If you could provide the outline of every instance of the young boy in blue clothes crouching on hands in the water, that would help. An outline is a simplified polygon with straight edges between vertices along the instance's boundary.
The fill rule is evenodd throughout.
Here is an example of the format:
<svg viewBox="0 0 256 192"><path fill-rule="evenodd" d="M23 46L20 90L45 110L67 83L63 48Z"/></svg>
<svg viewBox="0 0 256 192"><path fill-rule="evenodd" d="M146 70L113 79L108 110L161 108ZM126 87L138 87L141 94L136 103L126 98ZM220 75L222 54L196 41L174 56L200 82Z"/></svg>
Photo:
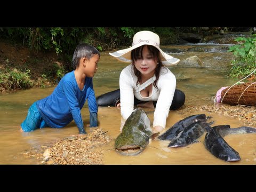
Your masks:
<svg viewBox="0 0 256 192"><path fill-rule="evenodd" d="M77 45L72 60L75 70L61 78L51 95L30 106L25 121L21 123L22 131L65 127L74 119L79 134L86 134L81 115L86 99L90 111L90 127L98 126L98 105L92 77L98 69L99 60L100 53L94 46L85 43Z"/></svg>

